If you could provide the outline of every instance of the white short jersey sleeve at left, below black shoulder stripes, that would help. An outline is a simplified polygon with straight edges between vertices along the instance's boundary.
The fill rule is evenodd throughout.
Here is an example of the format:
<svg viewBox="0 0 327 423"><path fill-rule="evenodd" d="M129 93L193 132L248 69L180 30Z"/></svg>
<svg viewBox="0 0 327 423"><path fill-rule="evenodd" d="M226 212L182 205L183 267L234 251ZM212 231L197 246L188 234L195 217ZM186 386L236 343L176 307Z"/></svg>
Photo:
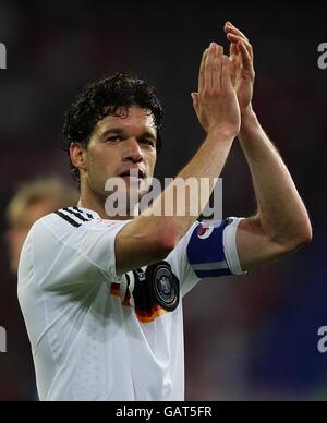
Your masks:
<svg viewBox="0 0 327 423"><path fill-rule="evenodd" d="M120 282L114 243L126 223L94 219L74 227L57 216L41 219L29 234L36 283L59 289Z"/></svg>

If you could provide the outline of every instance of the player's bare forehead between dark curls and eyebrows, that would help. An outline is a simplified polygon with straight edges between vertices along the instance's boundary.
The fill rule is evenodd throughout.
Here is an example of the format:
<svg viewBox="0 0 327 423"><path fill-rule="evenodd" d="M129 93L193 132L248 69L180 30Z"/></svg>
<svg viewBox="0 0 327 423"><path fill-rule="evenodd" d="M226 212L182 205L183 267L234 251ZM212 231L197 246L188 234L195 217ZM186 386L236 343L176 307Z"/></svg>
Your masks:
<svg viewBox="0 0 327 423"><path fill-rule="evenodd" d="M117 116L108 116L97 123L96 131L101 135L110 129L121 129L129 132L149 132L156 135L153 114L140 107L119 109Z"/></svg>

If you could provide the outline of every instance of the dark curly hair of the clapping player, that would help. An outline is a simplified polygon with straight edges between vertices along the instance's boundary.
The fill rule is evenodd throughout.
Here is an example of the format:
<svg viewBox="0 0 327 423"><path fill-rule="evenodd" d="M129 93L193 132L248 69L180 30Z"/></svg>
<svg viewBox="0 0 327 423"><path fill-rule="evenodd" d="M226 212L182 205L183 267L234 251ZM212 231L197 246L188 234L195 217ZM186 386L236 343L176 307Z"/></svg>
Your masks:
<svg viewBox="0 0 327 423"><path fill-rule="evenodd" d="M72 143L87 147L96 124L107 116L119 116L120 108L138 106L153 116L157 130L157 152L161 149L162 107L155 88L130 74L118 73L114 76L87 85L77 95L64 114L63 134L66 142L63 150L70 154ZM80 184L80 171L71 161L71 173Z"/></svg>

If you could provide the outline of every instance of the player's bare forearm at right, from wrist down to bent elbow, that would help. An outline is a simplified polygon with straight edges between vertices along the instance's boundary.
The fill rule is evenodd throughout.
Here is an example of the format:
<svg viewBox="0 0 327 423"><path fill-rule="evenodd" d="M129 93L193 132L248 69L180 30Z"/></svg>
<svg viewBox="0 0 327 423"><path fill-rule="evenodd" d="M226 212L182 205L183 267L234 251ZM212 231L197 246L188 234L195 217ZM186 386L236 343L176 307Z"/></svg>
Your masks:
<svg viewBox="0 0 327 423"><path fill-rule="evenodd" d="M311 238L311 223L290 172L256 116L243 117L239 135L253 177L258 218L276 242Z"/></svg>

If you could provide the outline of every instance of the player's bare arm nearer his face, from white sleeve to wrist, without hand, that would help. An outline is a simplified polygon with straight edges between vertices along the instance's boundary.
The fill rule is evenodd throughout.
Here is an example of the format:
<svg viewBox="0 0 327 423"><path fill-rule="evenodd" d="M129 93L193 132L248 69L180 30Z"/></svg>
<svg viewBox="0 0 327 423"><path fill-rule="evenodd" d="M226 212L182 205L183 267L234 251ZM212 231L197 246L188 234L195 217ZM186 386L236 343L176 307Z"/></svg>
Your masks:
<svg viewBox="0 0 327 423"><path fill-rule="evenodd" d="M234 136L233 136L234 137ZM219 177L227 156L232 146L233 137L223 135L209 135L190 164L179 173L177 179L209 178L209 189L201 197L191 197L190 204L195 202L202 210L209 201L214 190L213 180ZM120 275L131 269L157 263L165 259L178 242L189 231L198 216L190 213L166 216L162 210L165 203L171 201L174 193L175 181L154 202L150 209L132 220L119 233L117 240L117 268ZM201 200L202 198L202 200ZM184 202L184 200L183 200ZM150 216L148 216L150 211ZM201 214L201 213L199 213Z"/></svg>

